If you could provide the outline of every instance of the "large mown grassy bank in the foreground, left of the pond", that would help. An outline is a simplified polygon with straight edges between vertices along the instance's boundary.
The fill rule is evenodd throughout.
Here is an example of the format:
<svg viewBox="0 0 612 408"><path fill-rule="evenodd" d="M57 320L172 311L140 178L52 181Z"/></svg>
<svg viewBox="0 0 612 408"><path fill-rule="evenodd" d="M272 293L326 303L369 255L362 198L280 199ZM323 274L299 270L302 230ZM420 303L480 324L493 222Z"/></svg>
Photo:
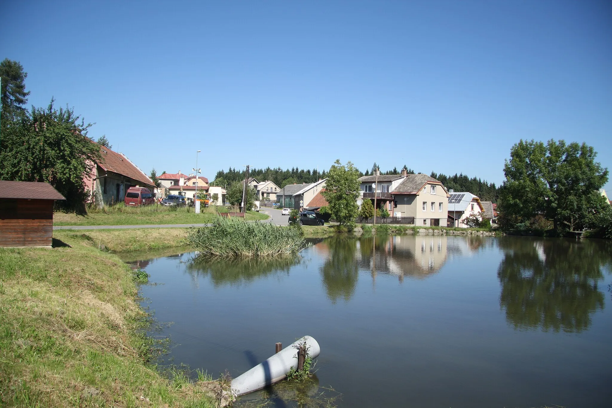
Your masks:
<svg viewBox="0 0 612 408"><path fill-rule="evenodd" d="M212 407L206 383L147 363L132 270L90 239L0 248L0 406Z"/></svg>

